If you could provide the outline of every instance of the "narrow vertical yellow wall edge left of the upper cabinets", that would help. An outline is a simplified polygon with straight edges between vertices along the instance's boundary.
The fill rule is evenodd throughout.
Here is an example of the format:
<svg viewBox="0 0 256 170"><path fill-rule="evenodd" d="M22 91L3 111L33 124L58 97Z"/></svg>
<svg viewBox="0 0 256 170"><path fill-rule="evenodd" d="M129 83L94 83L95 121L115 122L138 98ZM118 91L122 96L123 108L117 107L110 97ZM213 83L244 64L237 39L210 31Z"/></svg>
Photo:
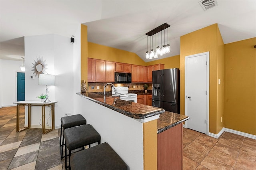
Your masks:
<svg viewBox="0 0 256 170"><path fill-rule="evenodd" d="M81 80L87 81L87 26L81 24ZM87 84L88 87L88 84Z"/></svg>

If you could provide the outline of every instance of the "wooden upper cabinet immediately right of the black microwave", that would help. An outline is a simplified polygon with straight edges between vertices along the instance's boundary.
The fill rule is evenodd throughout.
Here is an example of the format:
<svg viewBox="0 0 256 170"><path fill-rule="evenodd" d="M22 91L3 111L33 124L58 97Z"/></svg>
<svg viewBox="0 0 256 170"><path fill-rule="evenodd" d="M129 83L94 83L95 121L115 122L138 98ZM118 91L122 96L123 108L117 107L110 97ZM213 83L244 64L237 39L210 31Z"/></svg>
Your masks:
<svg viewBox="0 0 256 170"><path fill-rule="evenodd" d="M145 82L146 67L141 65L132 65L132 82Z"/></svg>

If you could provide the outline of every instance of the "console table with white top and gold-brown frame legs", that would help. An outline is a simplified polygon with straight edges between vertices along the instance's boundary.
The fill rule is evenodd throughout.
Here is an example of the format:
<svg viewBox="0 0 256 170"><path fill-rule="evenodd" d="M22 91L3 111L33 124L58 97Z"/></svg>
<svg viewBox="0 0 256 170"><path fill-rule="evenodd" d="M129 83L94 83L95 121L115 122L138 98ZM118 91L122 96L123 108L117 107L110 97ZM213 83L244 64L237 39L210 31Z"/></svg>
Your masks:
<svg viewBox="0 0 256 170"><path fill-rule="evenodd" d="M21 130L25 130L27 128L30 128L30 116L31 116L31 106L41 106L42 107L42 129L43 134L46 134L52 130L54 130L54 105L57 103L57 101L51 101L48 103L40 102L40 101L16 101L13 102L17 104L17 111L16 111L16 132L20 132ZM20 129L20 105L26 105L28 106L28 127L24 127ZM45 107L51 107L52 110L52 128L46 131L45 128Z"/></svg>

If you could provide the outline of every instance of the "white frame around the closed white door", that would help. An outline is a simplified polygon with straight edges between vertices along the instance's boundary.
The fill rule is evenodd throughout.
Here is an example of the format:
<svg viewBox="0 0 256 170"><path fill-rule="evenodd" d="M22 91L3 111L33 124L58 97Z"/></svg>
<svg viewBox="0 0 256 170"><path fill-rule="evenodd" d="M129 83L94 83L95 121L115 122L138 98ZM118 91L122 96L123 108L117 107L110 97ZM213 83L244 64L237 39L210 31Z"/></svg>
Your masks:
<svg viewBox="0 0 256 170"><path fill-rule="evenodd" d="M198 53L198 54L194 54L194 55L188 55L185 56L185 95L184 95L184 99L185 99L185 115L187 115L187 59L190 57L196 57L196 56L200 56L200 55L206 55L206 135L209 136L209 77L210 77L210 51L204 52L204 53ZM187 128L187 124L185 121L185 128Z"/></svg>

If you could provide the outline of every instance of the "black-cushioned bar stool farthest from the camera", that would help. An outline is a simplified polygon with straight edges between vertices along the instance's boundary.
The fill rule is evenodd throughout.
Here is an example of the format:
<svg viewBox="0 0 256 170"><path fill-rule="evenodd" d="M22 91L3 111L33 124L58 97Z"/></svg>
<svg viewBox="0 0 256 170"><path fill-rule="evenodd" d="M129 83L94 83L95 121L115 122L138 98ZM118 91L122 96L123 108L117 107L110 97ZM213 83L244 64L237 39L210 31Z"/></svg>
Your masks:
<svg viewBox="0 0 256 170"><path fill-rule="evenodd" d="M63 156L63 147L64 147L64 130L66 128L71 127L77 127L81 125L86 125L86 119L82 115L71 115L62 117L60 119L61 121L61 128L60 128L60 158L64 158ZM63 134L62 134L62 128L63 128ZM61 144L61 138L62 138L62 144Z"/></svg>

